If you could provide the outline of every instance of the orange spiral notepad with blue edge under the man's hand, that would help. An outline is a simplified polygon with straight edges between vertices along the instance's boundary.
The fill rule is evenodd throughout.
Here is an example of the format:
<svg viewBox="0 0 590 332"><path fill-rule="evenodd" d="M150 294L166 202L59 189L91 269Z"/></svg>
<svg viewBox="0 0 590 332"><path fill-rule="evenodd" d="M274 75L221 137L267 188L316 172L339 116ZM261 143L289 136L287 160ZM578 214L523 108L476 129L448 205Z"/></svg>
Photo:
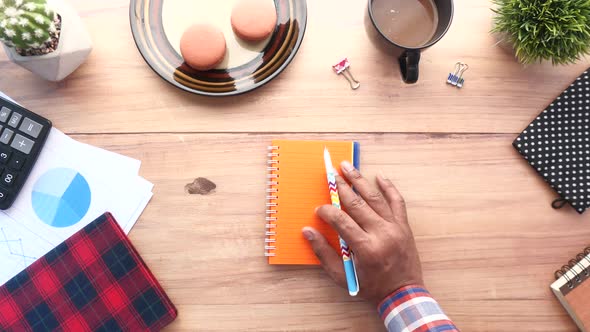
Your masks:
<svg viewBox="0 0 590 332"><path fill-rule="evenodd" d="M269 148L265 253L269 264L319 264L301 229L320 231L340 252L338 234L315 215L315 208L330 204L324 165L324 147L334 168L344 160L358 168L355 142L274 140Z"/></svg>

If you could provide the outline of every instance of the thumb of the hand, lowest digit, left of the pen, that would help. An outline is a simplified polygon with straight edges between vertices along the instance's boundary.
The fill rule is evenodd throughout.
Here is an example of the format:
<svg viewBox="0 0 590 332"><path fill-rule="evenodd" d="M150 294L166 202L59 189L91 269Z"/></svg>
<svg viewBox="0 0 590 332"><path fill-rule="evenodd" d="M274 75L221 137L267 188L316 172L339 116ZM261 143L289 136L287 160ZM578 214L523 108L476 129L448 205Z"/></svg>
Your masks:
<svg viewBox="0 0 590 332"><path fill-rule="evenodd" d="M316 229L312 227L304 227L303 236L311 244L313 252L320 260L322 267L328 275L340 286L346 288L346 275L344 274L344 266L342 265L342 258L330 246L328 240Z"/></svg>

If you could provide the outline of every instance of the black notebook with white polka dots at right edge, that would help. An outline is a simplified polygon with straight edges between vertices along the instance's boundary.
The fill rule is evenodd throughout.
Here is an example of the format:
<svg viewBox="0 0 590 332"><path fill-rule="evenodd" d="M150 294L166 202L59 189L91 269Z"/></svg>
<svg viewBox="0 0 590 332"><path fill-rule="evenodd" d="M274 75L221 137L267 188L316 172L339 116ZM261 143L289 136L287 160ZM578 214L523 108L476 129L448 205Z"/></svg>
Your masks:
<svg viewBox="0 0 590 332"><path fill-rule="evenodd" d="M590 207L590 74L584 72L514 141L514 147L560 198L583 213Z"/></svg>

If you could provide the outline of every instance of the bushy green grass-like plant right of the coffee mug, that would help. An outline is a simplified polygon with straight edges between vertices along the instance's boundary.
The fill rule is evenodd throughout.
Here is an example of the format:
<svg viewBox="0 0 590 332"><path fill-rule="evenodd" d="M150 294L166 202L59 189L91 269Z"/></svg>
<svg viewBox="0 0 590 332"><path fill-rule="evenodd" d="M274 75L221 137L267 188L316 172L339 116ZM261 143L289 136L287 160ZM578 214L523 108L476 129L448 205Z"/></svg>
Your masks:
<svg viewBox="0 0 590 332"><path fill-rule="evenodd" d="M570 64L590 51L590 1L492 0L493 33L523 64Z"/></svg>

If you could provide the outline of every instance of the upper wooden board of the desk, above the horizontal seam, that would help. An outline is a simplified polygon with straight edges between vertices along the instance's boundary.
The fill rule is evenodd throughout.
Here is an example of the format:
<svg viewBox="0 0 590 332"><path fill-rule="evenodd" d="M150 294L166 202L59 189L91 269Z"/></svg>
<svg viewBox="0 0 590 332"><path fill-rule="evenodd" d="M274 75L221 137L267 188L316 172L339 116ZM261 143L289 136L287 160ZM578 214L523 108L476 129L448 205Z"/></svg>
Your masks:
<svg viewBox="0 0 590 332"><path fill-rule="evenodd" d="M47 84L2 55L0 88L75 133L517 133L589 66L524 68L489 34L489 1L457 0L448 35L423 54L419 83L405 85L397 60L372 42L366 1L309 0L305 40L288 69L256 92L212 99L175 89L145 64L128 0L71 2L95 43L88 62ZM358 91L332 72L344 56ZM463 90L445 84L458 60L471 66Z"/></svg>

